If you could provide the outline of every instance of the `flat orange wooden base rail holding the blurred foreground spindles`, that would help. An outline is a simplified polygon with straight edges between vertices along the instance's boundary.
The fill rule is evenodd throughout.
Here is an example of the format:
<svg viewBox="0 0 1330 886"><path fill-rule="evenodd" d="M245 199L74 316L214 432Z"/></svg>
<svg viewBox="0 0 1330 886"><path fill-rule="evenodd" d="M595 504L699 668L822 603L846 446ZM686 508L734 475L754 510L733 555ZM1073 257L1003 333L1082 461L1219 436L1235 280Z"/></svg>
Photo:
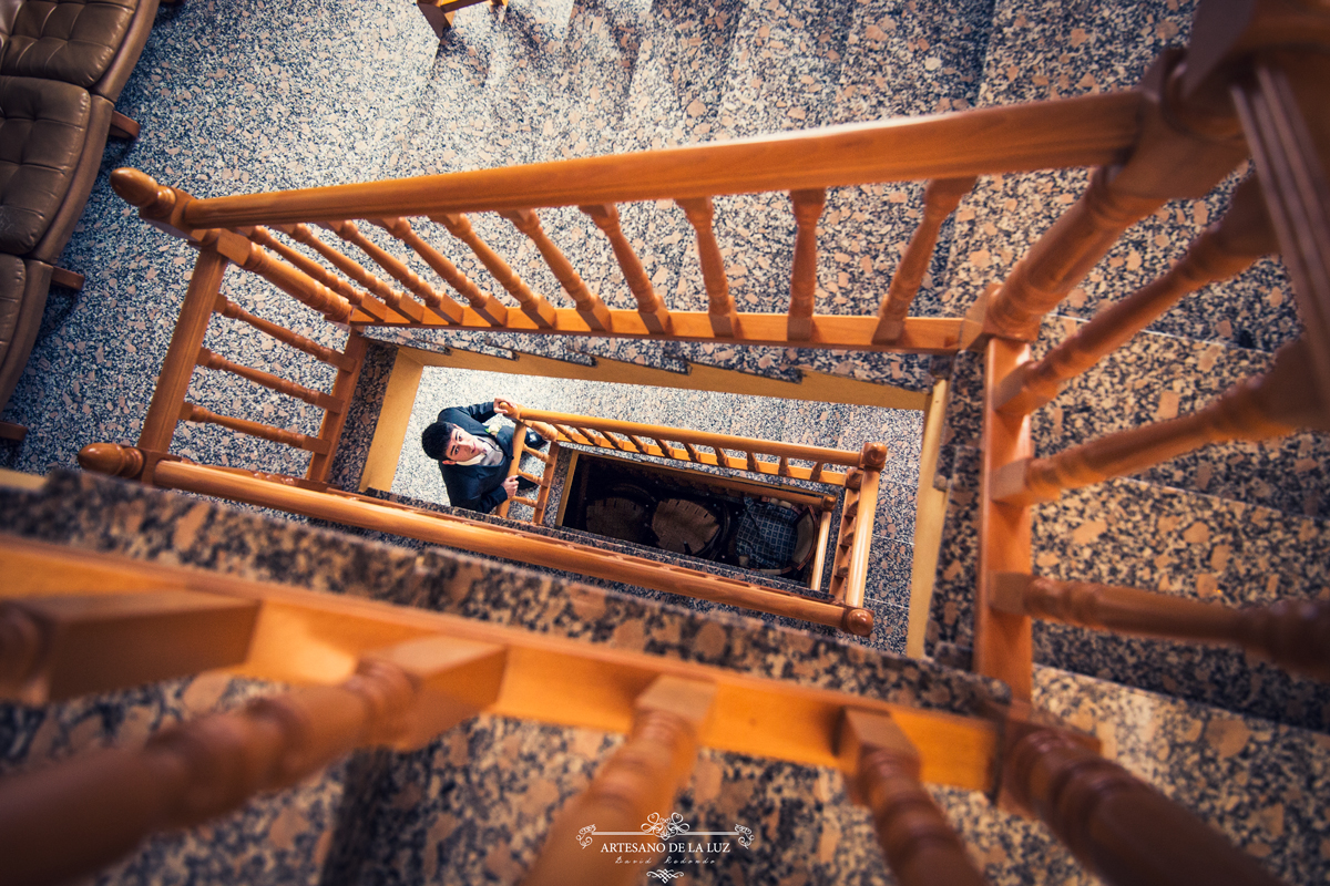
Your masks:
<svg viewBox="0 0 1330 886"><path fill-rule="evenodd" d="M835 735L846 707L887 712L919 748L922 777L970 790L994 786L998 727L982 717L890 704L880 699L746 676L676 658L628 652L551 634L235 576L0 535L0 598L162 588L263 602L242 673L295 685L350 676L367 652L434 635L507 650L499 696L488 712L625 733L633 700L660 676L714 683L712 720L701 743L735 753L835 766Z"/></svg>

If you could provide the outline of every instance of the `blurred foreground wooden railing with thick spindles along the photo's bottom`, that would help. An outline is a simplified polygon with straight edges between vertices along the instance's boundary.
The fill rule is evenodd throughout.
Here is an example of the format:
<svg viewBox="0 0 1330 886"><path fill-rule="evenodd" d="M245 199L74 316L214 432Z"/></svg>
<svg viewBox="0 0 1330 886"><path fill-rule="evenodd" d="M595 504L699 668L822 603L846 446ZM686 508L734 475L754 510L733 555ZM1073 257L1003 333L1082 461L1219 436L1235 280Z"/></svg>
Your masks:
<svg viewBox="0 0 1330 886"><path fill-rule="evenodd" d="M138 651L149 634L132 636L106 614L133 610L146 627L154 618L174 618L182 594L196 602L206 595L192 616L205 627L217 619L229 635L241 628L247 654L238 672L295 687L158 731L140 748L108 748L0 781L0 855L7 882L17 885L93 874L153 832L209 821L358 747L422 748L481 712L629 736L556 817L528 883L636 879L640 867L614 865L613 855L587 846L597 830L668 837L665 829L648 829L673 820L660 813L669 812L700 747L842 768L851 796L871 808L883 854L907 886L984 882L923 781L995 792L1037 814L1117 886L1176 883L1197 871L1205 882L1277 882L1218 832L1100 757L1095 739L1047 715L1036 720L1020 705L998 708L996 716L960 716L888 704L15 537L0 535L0 571L9 579L0 588L0 598L11 600L5 614L19 607L86 615L98 600L77 588L137 588L129 595L137 603L109 592L100 600L102 616L82 619L84 639L112 659L126 643ZM235 612L247 622L239 624ZM5 642L8 623L0 616ZM166 623L149 627L150 636L161 627ZM37 644L48 650L44 667L59 673L73 659L86 668L86 648L47 643L61 630L68 628L37 627ZM184 647L170 646L172 652L152 655L182 664ZM0 646L0 662L8 660L7 650ZM223 658L234 660L233 651ZM112 667L96 688L145 677Z"/></svg>

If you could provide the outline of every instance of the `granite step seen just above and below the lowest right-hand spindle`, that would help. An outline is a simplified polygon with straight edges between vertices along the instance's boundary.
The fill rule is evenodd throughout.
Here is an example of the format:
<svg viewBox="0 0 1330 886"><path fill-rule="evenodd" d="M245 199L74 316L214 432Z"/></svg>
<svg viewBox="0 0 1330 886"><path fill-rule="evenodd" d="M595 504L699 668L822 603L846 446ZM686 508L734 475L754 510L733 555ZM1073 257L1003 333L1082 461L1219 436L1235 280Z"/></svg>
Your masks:
<svg viewBox="0 0 1330 886"><path fill-rule="evenodd" d="M974 643L979 453L958 450L928 624L952 665ZM1330 596L1330 522L1115 480L1035 510L1035 571L1230 606ZM959 652L959 654L958 654ZM1330 685L1228 647L1035 623L1035 660L1248 716L1330 729Z"/></svg>

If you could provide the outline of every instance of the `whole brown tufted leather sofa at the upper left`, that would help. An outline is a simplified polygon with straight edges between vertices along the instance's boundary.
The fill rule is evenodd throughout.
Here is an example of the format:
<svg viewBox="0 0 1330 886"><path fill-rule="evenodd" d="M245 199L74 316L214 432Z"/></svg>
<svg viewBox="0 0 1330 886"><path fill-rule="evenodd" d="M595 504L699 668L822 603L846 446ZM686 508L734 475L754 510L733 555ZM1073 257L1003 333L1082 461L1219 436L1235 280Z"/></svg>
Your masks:
<svg viewBox="0 0 1330 886"><path fill-rule="evenodd" d="M47 292L92 194L109 134L137 124L114 101L157 0L0 0L0 409L28 363ZM0 437L27 429L0 422Z"/></svg>

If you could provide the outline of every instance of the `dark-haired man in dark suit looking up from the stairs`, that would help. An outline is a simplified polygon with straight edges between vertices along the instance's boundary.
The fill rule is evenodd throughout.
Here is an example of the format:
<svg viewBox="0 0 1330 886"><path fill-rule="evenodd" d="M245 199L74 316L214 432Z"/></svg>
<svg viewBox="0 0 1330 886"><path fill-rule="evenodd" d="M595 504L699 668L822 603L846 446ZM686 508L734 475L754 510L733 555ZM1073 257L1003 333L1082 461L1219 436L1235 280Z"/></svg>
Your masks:
<svg viewBox="0 0 1330 886"><path fill-rule="evenodd" d="M507 404L503 397L473 406L450 406L420 436L424 454L439 462L448 503L488 514L500 502L531 489L533 482L508 477L512 464L512 428L491 430L484 424ZM527 448L540 449L545 438L527 432ZM507 478L507 480L505 480Z"/></svg>

